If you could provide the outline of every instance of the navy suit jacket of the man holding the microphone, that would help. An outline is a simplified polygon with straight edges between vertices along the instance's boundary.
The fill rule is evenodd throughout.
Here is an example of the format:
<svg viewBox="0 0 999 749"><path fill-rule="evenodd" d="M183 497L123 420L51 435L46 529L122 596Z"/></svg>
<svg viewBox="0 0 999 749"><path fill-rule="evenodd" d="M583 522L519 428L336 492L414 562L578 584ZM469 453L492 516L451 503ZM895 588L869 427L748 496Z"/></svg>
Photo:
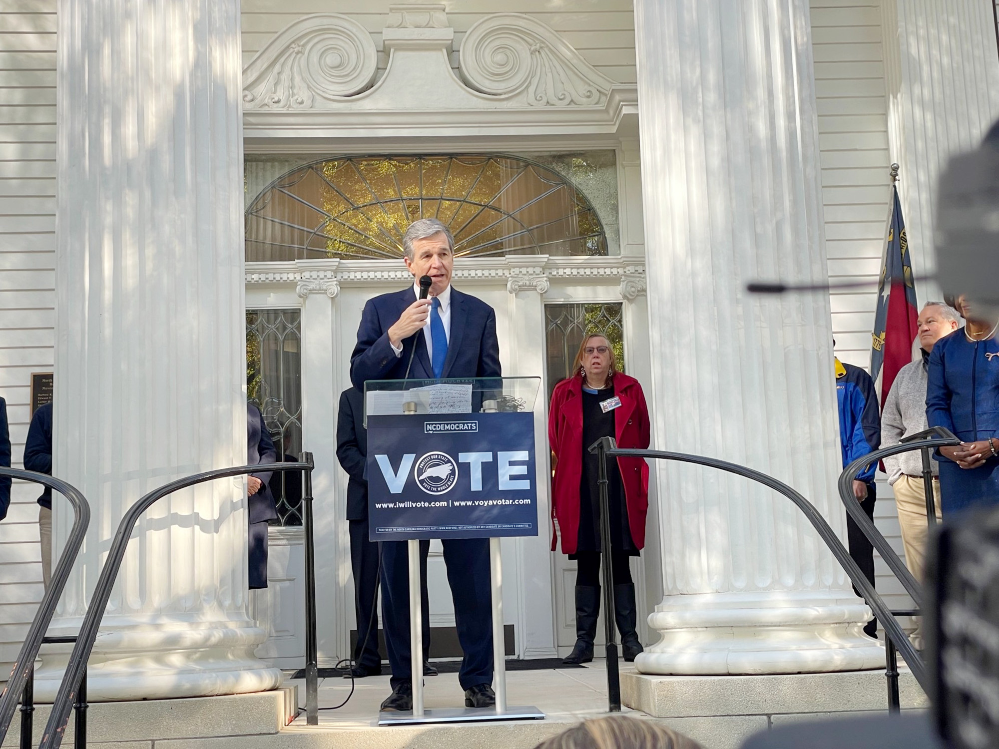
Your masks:
<svg viewBox="0 0 999 749"><path fill-rule="evenodd" d="M403 379L414 346L417 353L410 378L434 378L423 331L417 331L403 342L401 357L396 356L389 343L389 329L416 299L411 286L401 292L383 294L365 305L358 328L358 345L351 355L351 381L362 392L369 379ZM451 338L442 376L500 376L500 342L497 340L497 316L493 308L454 287L451 290L451 305Z"/></svg>

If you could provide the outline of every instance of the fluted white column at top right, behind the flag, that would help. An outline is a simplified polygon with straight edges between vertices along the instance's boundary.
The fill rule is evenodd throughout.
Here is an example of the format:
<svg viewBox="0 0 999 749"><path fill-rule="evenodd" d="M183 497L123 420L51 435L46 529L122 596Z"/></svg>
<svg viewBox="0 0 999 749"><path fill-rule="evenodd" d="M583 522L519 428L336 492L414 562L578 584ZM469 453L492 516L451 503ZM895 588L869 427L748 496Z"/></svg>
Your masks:
<svg viewBox="0 0 999 749"><path fill-rule="evenodd" d="M999 118L999 52L990 2L882 0L888 147L900 165L906 236L917 277L935 268L937 180L954 154L978 148ZM886 180L887 182L887 180ZM939 299L916 283L920 301Z"/></svg>

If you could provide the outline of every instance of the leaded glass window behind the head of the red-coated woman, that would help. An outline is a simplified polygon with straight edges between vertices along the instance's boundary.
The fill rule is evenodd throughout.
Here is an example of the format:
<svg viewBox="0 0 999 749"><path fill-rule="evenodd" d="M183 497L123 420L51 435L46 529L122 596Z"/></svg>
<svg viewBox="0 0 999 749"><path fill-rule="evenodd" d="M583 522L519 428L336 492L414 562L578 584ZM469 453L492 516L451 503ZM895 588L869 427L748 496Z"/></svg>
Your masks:
<svg viewBox="0 0 999 749"><path fill-rule="evenodd" d="M618 303L545 305L545 353L548 392L567 377L583 338L603 336L614 351L617 370L624 372L623 307Z"/></svg>

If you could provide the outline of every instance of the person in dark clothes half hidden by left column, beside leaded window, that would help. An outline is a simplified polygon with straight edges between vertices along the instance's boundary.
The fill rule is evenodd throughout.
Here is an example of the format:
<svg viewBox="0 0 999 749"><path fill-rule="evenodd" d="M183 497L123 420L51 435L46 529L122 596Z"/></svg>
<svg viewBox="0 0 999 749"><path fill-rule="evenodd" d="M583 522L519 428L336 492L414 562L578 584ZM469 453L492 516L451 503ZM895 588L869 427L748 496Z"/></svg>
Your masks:
<svg viewBox="0 0 999 749"><path fill-rule="evenodd" d="M278 450L264 423L264 416L253 403L247 403L247 465L273 463ZM278 516L274 494L268 482L273 471L264 470L247 476L249 518L250 589L267 587L267 527L268 520Z"/></svg>

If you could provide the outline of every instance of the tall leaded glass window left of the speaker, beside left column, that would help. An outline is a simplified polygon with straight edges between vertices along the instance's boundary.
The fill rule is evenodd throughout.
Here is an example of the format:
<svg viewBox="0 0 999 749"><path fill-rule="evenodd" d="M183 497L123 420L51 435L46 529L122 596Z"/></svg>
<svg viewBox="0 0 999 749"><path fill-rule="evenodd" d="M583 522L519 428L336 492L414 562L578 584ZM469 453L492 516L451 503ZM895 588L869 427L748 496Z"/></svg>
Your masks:
<svg viewBox="0 0 999 749"><path fill-rule="evenodd" d="M264 414L279 460L302 451L302 332L299 310L247 310L247 397ZM276 472L276 525L302 524L302 474Z"/></svg>

